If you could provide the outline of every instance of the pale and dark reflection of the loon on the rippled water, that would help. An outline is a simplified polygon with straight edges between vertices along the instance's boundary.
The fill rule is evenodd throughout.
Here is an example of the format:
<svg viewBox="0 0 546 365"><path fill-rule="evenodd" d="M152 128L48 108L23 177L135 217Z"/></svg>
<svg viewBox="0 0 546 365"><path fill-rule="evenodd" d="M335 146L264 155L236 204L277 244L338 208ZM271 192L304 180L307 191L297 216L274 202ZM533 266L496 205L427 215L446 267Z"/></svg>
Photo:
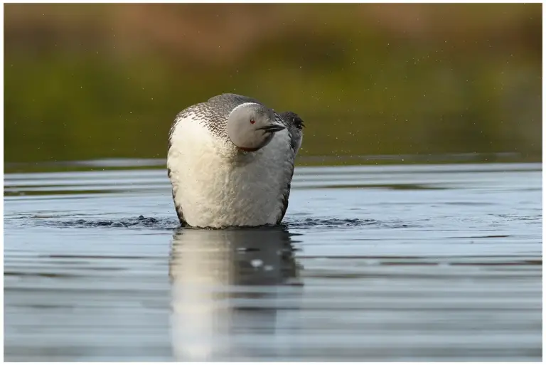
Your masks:
<svg viewBox="0 0 546 365"><path fill-rule="evenodd" d="M241 335L274 338L277 300L301 290L291 236L280 227L176 231L169 265L176 360L245 359L257 350Z"/></svg>

